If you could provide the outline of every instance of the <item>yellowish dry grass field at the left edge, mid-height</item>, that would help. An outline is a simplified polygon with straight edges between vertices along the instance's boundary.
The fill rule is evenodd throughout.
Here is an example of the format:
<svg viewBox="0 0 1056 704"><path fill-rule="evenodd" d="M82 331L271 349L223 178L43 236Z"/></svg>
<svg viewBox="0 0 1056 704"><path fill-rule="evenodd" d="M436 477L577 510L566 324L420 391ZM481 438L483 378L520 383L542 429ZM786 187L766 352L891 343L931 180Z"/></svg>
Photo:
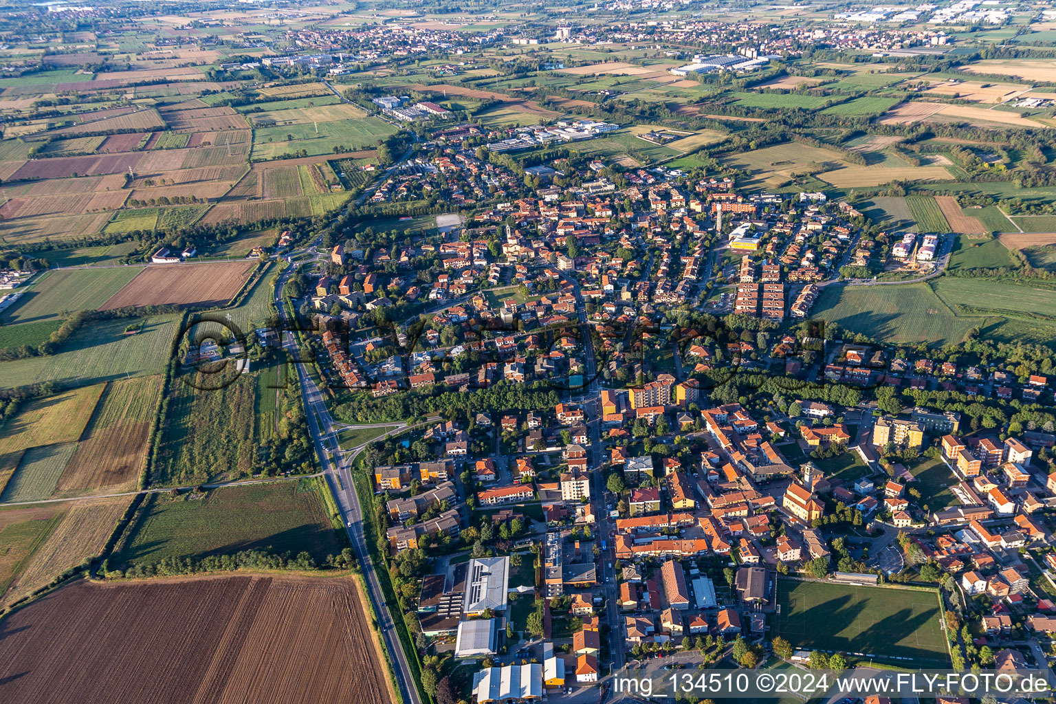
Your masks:
<svg viewBox="0 0 1056 704"><path fill-rule="evenodd" d="M75 442L92 417L102 386L81 386L25 404L0 427L0 457L29 448Z"/></svg>

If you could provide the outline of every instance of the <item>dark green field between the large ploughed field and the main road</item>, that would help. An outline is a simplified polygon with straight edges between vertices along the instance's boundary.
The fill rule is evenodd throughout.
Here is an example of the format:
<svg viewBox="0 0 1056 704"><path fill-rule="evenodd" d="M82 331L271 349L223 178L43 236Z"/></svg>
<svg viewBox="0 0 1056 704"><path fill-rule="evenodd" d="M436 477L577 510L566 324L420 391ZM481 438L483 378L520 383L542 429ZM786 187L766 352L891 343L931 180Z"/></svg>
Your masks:
<svg viewBox="0 0 1056 704"><path fill-rule="evenodd" d="M297 555L318 564L341 551L331 526L319 477L185 492L151 494L122 536L111 562L124 569L165 557L201 558L242 550Z"/></svg>

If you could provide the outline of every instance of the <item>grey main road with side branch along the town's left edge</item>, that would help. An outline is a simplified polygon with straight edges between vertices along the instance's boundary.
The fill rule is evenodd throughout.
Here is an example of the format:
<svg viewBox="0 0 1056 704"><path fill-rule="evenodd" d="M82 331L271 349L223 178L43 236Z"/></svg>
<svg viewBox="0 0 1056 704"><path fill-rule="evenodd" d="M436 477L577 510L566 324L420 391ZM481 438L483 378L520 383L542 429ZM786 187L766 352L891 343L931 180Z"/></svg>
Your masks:
<svg viewBox="0 0 1056 704"><path fill-rule="evenodd" d="M286 311L282 305L281 292L293 269L294 267L287 268L279 277L275 287L276 307L283 320L286 319ZM297 341L290 332L283 332L282 344L291 355L291 359L298 359ZM356 486L352 480L352 472L348 469L352 464L352 459L359 454L366 443L356 448L348 456L342 456L342 451L338 446L335 423L331 418L329 412L326 410L322 393L312 380L302 362L296 362L295 367L301 382L301 399L304 402L304 415L308 420L308 430L312 433L316 454L319 456L319 462L322 464L323 474L329 484L331 492L337 500L338 510L341 512L341 520L344 522L345 530L348 533L348 539L356 551L356 559L362 570L367 595L374 605L374 612L377 614L381 640L389 650L389 658L393 664L393 672L396 676L396 684L399 687L400 697L404 704L421 704L414 676L407 662L407 654L403 652L399 635L396 632L393 614L389 611L384 593L381 591L381 585L378 582L378 575L374 570L374 563L371 560L370 553L366 550L366 540L363 535L363 514L359 505L359 496L356 494ZM406 427L403 423L396 424L393 431L380 437L385 437L394 432L401 432L403 427ZM331 460L332 456L334 458L333 461ZM373 499L373 497L371 498Z"/></svg>

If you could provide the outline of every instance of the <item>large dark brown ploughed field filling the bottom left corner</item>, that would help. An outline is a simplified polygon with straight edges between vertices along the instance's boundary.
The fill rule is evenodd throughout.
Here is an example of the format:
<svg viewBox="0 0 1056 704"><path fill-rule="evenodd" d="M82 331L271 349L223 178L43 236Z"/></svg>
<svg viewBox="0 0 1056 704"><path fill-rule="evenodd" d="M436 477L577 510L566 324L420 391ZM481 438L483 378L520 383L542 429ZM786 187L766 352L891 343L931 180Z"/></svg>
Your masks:
<svg viewBox="0 0 1056 704"><path fill-rule="evenodd" d="M77 582L5 622L4 699L388 702L355 590L294 576Z"/></svg>

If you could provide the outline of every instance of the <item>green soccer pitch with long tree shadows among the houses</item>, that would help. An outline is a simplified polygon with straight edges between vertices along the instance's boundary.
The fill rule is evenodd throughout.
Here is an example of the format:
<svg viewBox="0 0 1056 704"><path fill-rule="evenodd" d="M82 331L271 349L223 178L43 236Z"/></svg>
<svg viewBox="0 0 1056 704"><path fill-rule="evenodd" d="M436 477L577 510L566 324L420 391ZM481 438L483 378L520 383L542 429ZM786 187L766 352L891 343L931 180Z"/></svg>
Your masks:
<svg viewBox="0 0 1056 704"><path fill-rule="evenodd" d="M934 591L779 579L776 635L795 648L949 663Z"/></svg>

